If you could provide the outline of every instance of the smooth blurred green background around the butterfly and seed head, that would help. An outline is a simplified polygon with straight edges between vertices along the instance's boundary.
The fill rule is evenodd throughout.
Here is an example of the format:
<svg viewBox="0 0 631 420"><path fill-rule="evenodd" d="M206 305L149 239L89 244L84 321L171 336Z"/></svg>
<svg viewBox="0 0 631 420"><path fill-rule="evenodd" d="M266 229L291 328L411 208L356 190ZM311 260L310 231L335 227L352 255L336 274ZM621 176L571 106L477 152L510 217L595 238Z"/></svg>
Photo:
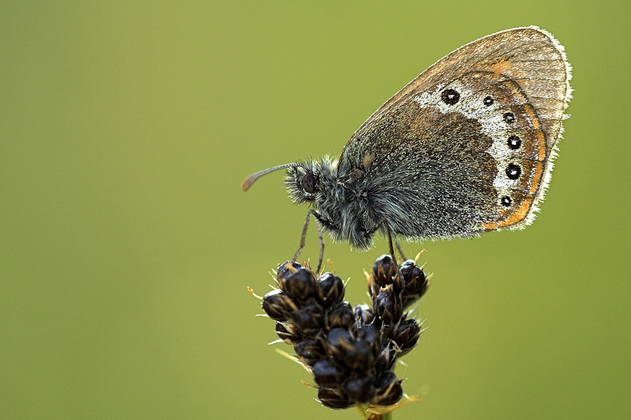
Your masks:
<svg viewBox="0 0 631 420"><path fill-rule="evenodd" d="M435 273L398 419L628 419L631 41L622 1L0 6L0 418L356 419L256 317L306 208L281 174L481 36L538 25L574 100L533 226L408 244ZM351 303L384 253L329 246ZM315 230L304 257L315 258Z"/></svg>

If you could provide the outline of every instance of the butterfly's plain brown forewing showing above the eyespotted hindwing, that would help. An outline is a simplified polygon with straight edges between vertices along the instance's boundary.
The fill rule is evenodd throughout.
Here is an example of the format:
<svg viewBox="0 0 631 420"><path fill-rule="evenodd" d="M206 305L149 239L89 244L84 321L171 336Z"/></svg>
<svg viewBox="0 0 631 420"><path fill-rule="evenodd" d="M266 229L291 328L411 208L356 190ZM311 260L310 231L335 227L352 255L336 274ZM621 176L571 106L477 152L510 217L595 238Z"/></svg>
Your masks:
<svg viewBox="0 0 631 420"><path fill-rule="evenodd" d="M465 72L494 72L516 81L539 112L548 146L554 147L571 97L571 66L554 36L534 26L484 36L442 57L381 105L357 132L410 95L430 90Z"/></svg>

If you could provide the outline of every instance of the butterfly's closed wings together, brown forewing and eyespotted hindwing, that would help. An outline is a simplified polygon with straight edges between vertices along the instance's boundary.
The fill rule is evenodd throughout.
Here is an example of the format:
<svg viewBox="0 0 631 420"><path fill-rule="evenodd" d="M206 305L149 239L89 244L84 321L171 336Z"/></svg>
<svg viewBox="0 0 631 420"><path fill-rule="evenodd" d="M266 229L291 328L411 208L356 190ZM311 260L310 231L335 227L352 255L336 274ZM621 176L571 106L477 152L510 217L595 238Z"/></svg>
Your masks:
<svg viewBox="0 0 631 420"><path fill-rule="evenodd" d="M370 217L386 217L402 236L525 226L550 179L569 79L563 48L548 32L527 27L478 39L368 118L342 151L339 171L364 182L375 211L383 210Z"/></svg>

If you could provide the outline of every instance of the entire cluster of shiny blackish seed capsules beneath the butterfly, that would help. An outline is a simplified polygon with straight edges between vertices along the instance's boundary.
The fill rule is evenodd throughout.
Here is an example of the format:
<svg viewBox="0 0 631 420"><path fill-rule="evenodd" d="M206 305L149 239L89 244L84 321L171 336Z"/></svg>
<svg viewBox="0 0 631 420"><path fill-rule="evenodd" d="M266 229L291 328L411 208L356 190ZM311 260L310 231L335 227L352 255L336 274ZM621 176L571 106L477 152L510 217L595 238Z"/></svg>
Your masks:
<svg viewBox="0 0 631 420"><path fill-rule="evenodd" d="M395 404L402 381L392 370L421 334L403 310L426 291L425 273L411 260L399 267L390 255L379 257L368 279L372 307L342 302L345 287L338 276L315 277L297 263L278 267L280 290L263 298L278 337L310 368L325 407Z"/></svg>

